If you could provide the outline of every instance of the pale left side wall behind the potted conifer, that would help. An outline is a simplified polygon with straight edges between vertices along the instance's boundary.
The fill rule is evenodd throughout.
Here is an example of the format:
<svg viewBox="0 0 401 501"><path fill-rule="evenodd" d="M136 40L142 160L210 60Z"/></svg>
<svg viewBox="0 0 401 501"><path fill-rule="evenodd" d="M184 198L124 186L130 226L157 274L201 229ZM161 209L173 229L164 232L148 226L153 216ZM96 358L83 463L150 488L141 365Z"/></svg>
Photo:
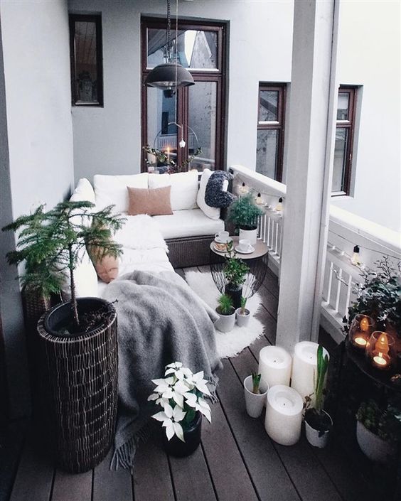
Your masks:
<svg viewBox="0 0 401 501"><path fill-rule="evenodd" d="M2 227L40 201L50 209L68 195L73 183L73 128L65 0L1 1L0 13ZM0 313L15 418L28 412L29 399L17 271L5 262L14 246L11 233L1 235Z"/></svg>

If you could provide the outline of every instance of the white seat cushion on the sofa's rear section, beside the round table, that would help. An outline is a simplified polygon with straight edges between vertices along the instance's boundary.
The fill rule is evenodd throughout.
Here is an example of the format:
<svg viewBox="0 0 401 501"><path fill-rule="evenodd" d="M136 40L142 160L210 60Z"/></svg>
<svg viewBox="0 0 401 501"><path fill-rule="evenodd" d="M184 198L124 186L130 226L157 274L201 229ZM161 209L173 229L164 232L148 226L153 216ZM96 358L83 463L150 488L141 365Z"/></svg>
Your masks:
<svg viewBox="0 0 401 501"><path fill-rule="evenodd" d="M201 209L176 210L173 215L153 216L164 238L201 237L224 230L223 220L213 220Z"/></svg>

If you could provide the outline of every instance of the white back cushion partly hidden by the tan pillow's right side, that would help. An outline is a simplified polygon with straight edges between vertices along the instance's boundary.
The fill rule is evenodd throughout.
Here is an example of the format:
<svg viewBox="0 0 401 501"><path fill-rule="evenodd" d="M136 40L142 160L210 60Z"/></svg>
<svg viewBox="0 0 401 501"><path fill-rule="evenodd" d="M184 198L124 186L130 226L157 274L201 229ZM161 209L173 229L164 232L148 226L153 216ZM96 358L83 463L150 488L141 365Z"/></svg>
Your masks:
<svg viewBox="0 0 401 501"><path fill-rule="evenodd" d="M163 188L171 185L171 209L196 209L198 194L198 172L178 172L175 174L149 174L149 188Z"/></svg>

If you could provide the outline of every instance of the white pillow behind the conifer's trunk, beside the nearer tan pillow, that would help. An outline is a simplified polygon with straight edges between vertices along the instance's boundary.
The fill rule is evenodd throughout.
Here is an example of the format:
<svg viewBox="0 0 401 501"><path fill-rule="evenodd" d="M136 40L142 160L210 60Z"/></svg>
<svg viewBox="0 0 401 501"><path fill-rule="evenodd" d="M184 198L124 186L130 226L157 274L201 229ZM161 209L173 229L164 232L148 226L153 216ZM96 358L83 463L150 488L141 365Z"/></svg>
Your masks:
<svg viewBox="0 0 401 501"><path fill-rule="evenodd" d="M93 266L86 249L81 249L80 255L82 261L78 262L74 270L75 279L75 294L77 298L83 297L97 297L97 273L95 266ZM65 280L61 286L61 296L63 301L70 301L71 288L70 288L70 273L68 270L63 271Z"/></svg>

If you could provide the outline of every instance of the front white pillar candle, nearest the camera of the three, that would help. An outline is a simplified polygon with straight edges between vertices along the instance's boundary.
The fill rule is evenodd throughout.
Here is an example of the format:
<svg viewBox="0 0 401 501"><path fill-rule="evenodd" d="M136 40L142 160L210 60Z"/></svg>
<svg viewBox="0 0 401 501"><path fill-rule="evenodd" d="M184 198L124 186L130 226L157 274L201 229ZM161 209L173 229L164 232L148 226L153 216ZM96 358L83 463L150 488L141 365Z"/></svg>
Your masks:
<svg viewBox="0 0 401 501"><path fill-rule="evenodd" d="M301 396L284 384L277 384L267 392L264 428L274 442L282 446L293 446L301 436L302 411Z"/></svg>

